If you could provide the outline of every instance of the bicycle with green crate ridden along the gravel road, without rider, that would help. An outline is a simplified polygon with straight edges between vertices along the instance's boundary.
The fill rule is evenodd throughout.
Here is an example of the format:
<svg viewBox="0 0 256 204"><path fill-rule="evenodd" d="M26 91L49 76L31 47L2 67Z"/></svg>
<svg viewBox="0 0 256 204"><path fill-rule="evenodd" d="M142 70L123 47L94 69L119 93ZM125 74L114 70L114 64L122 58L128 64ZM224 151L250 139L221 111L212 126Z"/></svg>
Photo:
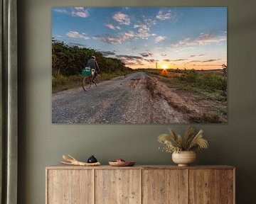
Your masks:
<svg viewBox="0 0 256 204"><path fill-rule="evenodd" d="M85 76L82 80L82 89L84 91L89 91L92 84L97 86L97 84L100 84L102 81L99 74L95 77L95 80L93 80L93 77L95 76L95 69L90 69L90 67L82 69L82 75Z"/></svg>

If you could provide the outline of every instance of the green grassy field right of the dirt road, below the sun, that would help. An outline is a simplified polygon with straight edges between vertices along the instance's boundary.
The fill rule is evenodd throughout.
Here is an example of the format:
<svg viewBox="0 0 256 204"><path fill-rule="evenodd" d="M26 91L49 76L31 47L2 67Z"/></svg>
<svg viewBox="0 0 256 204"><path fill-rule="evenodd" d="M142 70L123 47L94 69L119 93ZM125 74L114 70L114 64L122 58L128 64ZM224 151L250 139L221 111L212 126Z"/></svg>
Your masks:
<svg viewBox="0 0 256 204"><path fill-rule="evenodd" d="M209 106L208 113L198 115L179 104L170 104L178 111L188 115L191 123L223 123L227 118L227 77L222 70L196 71L145 69L144 72L156 77L167 86L195 96L195 101L215 101L215 106ZM169 101L170 102L170 101ZM171 103L171 102L170 102ZM207 103L207 102L206 102Z"/></svg>

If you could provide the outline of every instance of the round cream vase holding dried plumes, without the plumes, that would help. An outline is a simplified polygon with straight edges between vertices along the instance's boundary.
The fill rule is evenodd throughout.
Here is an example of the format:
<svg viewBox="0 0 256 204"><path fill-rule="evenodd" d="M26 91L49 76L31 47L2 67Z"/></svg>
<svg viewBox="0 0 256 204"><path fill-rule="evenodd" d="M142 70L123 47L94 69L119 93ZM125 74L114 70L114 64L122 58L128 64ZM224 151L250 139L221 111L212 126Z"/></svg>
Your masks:
<svg viewBox="0 0 256 204"><path fill-rule="evenodd" d="M178 166L189 166L193 162L196 162L196 152L193 151L181 151L174 152L172 154L172 160Z"/></svg>

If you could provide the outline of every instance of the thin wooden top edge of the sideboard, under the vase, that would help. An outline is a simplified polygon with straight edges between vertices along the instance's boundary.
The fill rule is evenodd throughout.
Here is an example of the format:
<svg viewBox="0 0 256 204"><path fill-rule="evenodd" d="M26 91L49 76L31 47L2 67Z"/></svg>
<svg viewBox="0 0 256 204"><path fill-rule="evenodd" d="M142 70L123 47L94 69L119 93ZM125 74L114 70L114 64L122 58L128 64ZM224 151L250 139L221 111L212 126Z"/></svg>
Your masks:
<svg viewBox="0 0 256 204"><path fill-rule="evenodd" d="M134 166L68 166L64 164L46 166L46 169L235 169L228 165L174 166L174 165L134 165Z"/></svg>

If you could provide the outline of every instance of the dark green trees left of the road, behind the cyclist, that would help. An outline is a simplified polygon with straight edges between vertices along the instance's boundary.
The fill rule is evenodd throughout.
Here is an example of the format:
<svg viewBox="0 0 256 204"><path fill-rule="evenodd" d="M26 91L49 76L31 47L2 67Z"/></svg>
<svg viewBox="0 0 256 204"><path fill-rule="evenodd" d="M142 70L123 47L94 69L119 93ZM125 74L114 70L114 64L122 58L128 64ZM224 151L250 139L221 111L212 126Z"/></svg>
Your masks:
<svg viewBox="0 0 256 204"><path fill-rule="evenodd" d="M100 67L100 72L131 72L125 67L124 62L114 57L105 57L101 52L78 46L69 46L65 42L52 39L52 73L63 76L80 74L86 67L87 60L95 56Z"/></svg>

